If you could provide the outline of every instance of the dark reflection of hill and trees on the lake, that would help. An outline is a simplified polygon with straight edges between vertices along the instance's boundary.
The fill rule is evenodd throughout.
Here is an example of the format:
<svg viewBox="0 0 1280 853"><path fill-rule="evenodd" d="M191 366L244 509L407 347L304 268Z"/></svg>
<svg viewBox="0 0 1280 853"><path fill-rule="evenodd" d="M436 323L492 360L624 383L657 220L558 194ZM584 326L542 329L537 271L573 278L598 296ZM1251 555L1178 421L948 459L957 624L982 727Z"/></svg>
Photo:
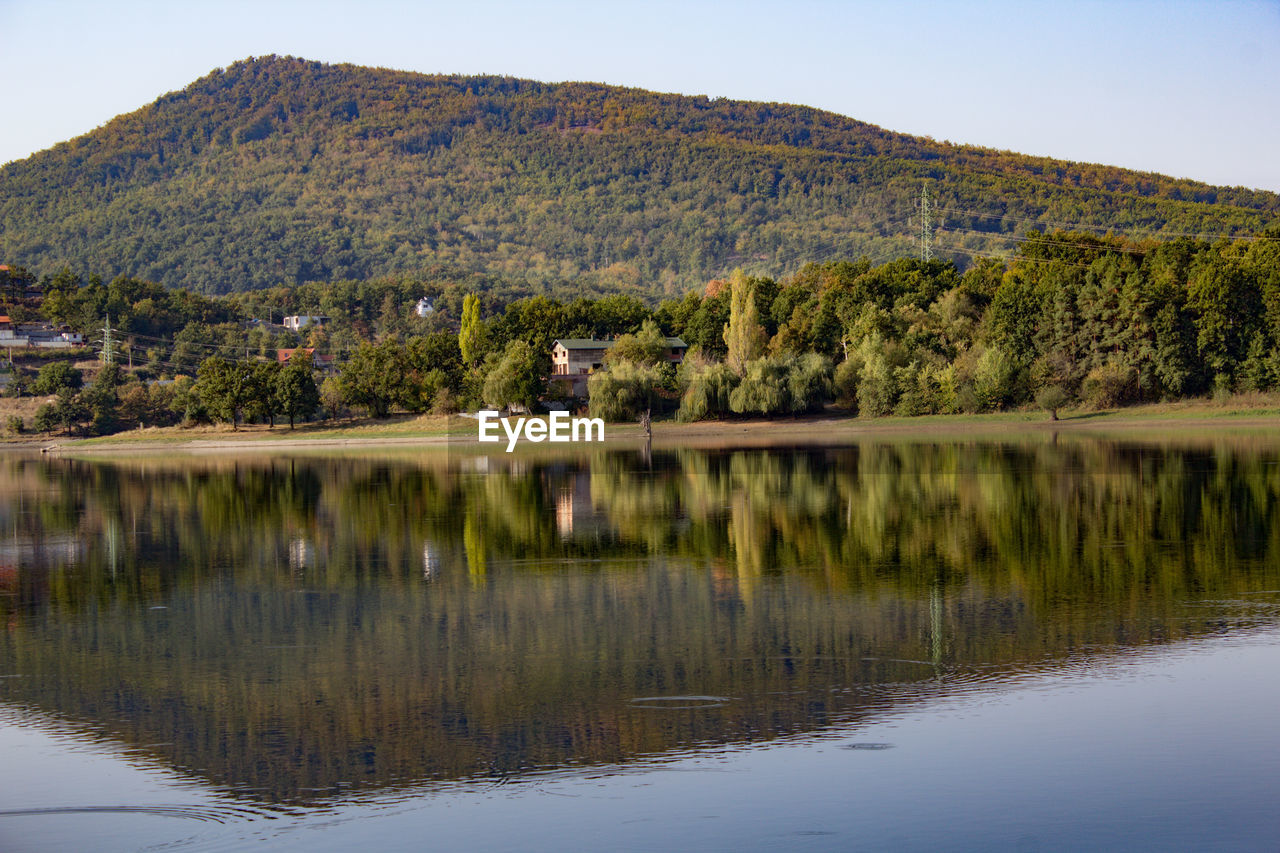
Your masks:
<svg viewBox="0 0 1280 853"><path fill-rule="evenodd" d="M0 698L270 800L810 731L1280 585L1265 448L3 464L4 542L59 544Z"/></svg>

